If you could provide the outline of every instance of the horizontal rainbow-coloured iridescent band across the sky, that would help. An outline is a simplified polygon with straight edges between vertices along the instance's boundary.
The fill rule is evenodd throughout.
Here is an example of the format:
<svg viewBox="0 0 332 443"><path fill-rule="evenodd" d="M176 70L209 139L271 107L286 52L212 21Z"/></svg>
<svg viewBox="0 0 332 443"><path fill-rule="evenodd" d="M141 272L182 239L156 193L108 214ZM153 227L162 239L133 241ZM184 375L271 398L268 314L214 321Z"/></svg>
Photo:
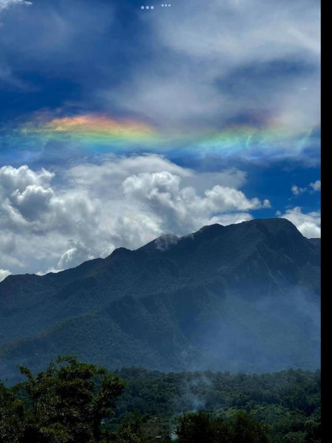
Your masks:
<svg viewBox="0 0 332 443"><path fill-rule="evenodd" d="M43 151L43 155L70 157L74 152L130 154L169 153L204 157L209 154L248 158L297 156L310 143L311 128L292 128L277 121L264 127L232 125L220 130L164 131L152 125L105 115L85 114L43 120L35 118L7 136L7 151ZM6 140L6 137L4 137ZM315 140L315 144L319 140ZM6 141L4 142L6 143ZM4 152L1 148L0 151Z"/></svg>

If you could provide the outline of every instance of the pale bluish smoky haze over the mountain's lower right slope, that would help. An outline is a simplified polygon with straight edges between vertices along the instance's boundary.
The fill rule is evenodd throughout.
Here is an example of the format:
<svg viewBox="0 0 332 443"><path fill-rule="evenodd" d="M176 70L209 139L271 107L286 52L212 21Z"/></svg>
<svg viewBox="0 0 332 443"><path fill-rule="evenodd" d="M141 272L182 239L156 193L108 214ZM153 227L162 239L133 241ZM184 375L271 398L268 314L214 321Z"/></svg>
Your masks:
<svg viewBox="0 0 332 443"><path fill-rule="evenodd" d="M224 297L206 331L197 335L201 354L188 370L263 373L320 367L320 301L294 289L246 299Z"/></svg>

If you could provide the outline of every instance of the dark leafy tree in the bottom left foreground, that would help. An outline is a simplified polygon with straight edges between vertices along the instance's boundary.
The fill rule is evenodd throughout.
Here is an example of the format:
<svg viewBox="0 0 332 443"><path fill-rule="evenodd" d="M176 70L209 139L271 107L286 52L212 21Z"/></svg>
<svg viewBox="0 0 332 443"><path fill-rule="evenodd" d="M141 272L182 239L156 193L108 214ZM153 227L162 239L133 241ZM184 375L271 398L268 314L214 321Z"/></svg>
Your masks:
<svg viewBox="0 0 332 443"><path fill-rule="evenodd" d="M101 420L113 413L124 381L106 369L64 356L35 377L0 390L0 441L3 443L99 442ZM15 393L21 393L20 400Z"/></svg>

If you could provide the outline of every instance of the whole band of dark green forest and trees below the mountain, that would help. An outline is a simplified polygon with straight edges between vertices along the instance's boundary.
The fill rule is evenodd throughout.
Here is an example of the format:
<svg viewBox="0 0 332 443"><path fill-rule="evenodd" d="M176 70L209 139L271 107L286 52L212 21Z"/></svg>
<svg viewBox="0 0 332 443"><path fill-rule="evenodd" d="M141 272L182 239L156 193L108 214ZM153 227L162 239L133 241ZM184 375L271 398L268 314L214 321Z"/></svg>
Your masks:
<svg viewBox="0 0 332 443"><path fill-rule="evenodd" d="M0 383L3 443L318 443L320 371L113 374L59 357Z"/></svg>

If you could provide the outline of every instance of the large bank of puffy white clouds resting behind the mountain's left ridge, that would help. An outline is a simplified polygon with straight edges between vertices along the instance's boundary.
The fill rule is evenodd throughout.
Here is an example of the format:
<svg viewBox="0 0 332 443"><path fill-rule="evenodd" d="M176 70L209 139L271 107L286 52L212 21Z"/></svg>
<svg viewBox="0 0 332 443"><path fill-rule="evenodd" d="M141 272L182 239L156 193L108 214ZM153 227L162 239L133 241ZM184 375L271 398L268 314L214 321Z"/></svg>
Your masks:
<svg viewBox="0 0 332 443"><path fill-rule="evenodd" d="M81 163L57 178L28 166L0 169L0 267L55 272L270 207L239 189L240 170L199 173L157 155Z"/></svg>

